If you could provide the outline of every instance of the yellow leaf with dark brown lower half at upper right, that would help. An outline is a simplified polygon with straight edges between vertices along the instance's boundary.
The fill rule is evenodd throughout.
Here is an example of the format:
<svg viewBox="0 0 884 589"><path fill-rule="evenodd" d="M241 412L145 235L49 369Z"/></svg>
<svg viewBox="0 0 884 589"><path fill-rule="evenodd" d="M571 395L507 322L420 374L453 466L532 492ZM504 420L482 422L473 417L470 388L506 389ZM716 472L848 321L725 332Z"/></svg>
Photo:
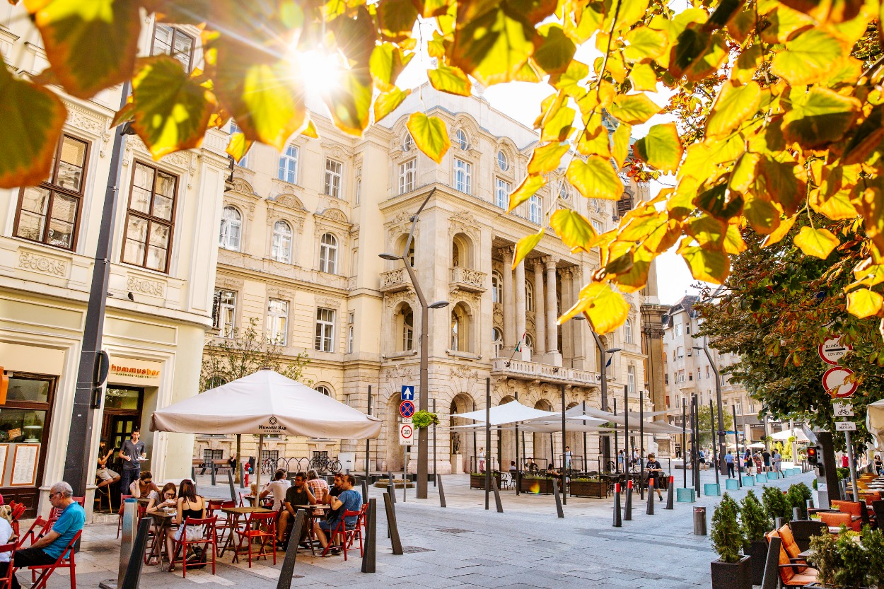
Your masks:
<svg viewBox="0 0 884 589"><path fill-rule="evenodd" d="M807 93L792 92L792 110L783 115L782 133L788 142L803 148L819 148L839 141L853 125L860 103L828 88Z"/></svg>

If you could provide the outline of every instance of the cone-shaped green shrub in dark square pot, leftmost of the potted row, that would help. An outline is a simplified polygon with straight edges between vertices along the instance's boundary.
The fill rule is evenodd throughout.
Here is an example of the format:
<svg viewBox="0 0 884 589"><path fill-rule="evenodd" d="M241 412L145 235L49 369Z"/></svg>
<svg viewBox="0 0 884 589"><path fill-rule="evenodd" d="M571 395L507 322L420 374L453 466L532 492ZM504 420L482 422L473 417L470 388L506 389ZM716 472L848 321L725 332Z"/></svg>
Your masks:
<svg viewBox="0 0 884 589"><path fill-rule="evenodd" d="M713 589L752 589L752 574L749 556L740 554L744 538L740 524L737 524L736 501L724 493L721 502L713 513L710 539L719 560L710 562Z"/></svg>

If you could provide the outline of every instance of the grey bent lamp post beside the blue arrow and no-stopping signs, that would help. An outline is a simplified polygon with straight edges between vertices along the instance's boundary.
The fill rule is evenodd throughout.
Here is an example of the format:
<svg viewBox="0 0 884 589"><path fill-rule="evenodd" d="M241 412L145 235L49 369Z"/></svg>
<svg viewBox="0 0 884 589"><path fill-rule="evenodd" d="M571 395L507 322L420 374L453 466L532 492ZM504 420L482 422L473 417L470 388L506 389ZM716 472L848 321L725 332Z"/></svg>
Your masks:
<svg viewBox="0 0 884 589"><path fill-rule="evenodd" d="M430 194L427 195L426 198L423 199L423 203L421 203L420 208L418 208L417 212L411 217L411 231L408 233L408 240L405 241L405 248L402 251L401 256L397 256L396 254L379 254L385 260L402 260L402 263L405 264L405 270L408 272L408 278L411 279L411 285L415 287L415 295L417 295L417 301L421 305L421 368L420 368L420 394L418 395L417 401L417 409L421 411L426 411L429 405L428 399L430 395L427 391L429 387L429 364L430 364L430 356L429 349L427 346L427 341L429 340L429 333L427 333L427 324L430 323L430 310L431 309L442 309L443 307L448 306L447 301L437 301L431 304L427 303L426 297L423 296L423 290L421 290L421 285L417 281L417 276L415 275L415 268L411 265L411 260L408 257L408 252L411 250L411 244L415 239L415 229L417 228L417 220L420 217L421 211L423 207L427 205L430 201L432 195L436 192L436 188L433 188L430 191ZM417 498L418 499L426 499L427 498L427 476L428 476L428 462L429 462L429 448L428 448L428 432L427 428L422 427L417 431ZM434 465L435 466L435 465ZM408 468L408 465L406 466Z"/></svg>

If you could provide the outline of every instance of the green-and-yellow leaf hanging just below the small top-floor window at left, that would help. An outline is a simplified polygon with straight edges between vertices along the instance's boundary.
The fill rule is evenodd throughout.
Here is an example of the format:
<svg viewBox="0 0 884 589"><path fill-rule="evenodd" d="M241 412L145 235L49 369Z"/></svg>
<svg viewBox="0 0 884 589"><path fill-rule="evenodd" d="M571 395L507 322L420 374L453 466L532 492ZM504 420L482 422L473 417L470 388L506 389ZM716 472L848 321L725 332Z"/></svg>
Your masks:
<svg viewBox="0 0 884 589"><path fill-rule="evenodd" d="M149 57L132 80L133 128L158 160L199 147L214 110L214 98L175 57Z"/></svg>

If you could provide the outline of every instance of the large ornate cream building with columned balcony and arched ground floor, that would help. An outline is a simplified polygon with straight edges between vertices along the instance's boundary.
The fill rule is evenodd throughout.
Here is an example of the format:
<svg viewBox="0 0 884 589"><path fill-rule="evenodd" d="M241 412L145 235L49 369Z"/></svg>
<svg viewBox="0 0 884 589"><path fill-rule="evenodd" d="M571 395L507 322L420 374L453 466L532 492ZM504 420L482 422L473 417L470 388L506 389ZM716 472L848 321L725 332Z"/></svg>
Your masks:
<svg viewBox="0 0 884 589"><path fill-rule="evenodd" d="M441 164L415 149L406 128L415 110L446 122L452 147ZM461 97L424 86L362 138L341 134L322 115L314 120L321 139L298 137L282 154L256 144L234 170L216 228L217 337L255 319L287 355L310 356L305 378L316 388L363 411L371 390L371 411L385 428L372 443L370 468L400 470L400 388L418 385L420 307L402 262L378 255L403 253L409 219L432 193L411 256L427 301L449 302L430 311L427 326L430 397L441 424L454 425L453 414L484 407L485 379L491 379L495 405L517 396L532 407L558 410L563 387L568 407L586 402L598 408L599 357L589 325L556 325L598 269L598 254L572 253L547 229L512 271L514 244L536 233L556 207L574 207L606 231L632 199L647 197L647 188L624 177L623 201L589 201L560 170L536 197L507 214L508 195L525 177L537 134L492 108L481 88ZM617 398L621 409L624 387L637 405L646 382L640 307L656 302L655 295L655 287L649 297L627 295L629 320L604 336L608 348L622 349L608 371L612 402ZM461 432L454 440L440 427L437 437L439 472L469 468L476 447L497 455L496 433L484 440L478 432L474 440ZM560 463L560 435L552 439L526 436L524 452L538 462L555 455ZM505 432L500 441L508 465L515 459L514 436ZM201 436L194 457L226 457L233 444L232 437ZM568 444L575 456L584 455L582 434L569 435ZM453 458L455 445L459 459ZM326 452L364 468L362 441L288 438L265 441L265 448L263 460L270 463ZM255 452L256 440L244 438L243 455ZM594 469L594 435L585 454Z"/></svg>

